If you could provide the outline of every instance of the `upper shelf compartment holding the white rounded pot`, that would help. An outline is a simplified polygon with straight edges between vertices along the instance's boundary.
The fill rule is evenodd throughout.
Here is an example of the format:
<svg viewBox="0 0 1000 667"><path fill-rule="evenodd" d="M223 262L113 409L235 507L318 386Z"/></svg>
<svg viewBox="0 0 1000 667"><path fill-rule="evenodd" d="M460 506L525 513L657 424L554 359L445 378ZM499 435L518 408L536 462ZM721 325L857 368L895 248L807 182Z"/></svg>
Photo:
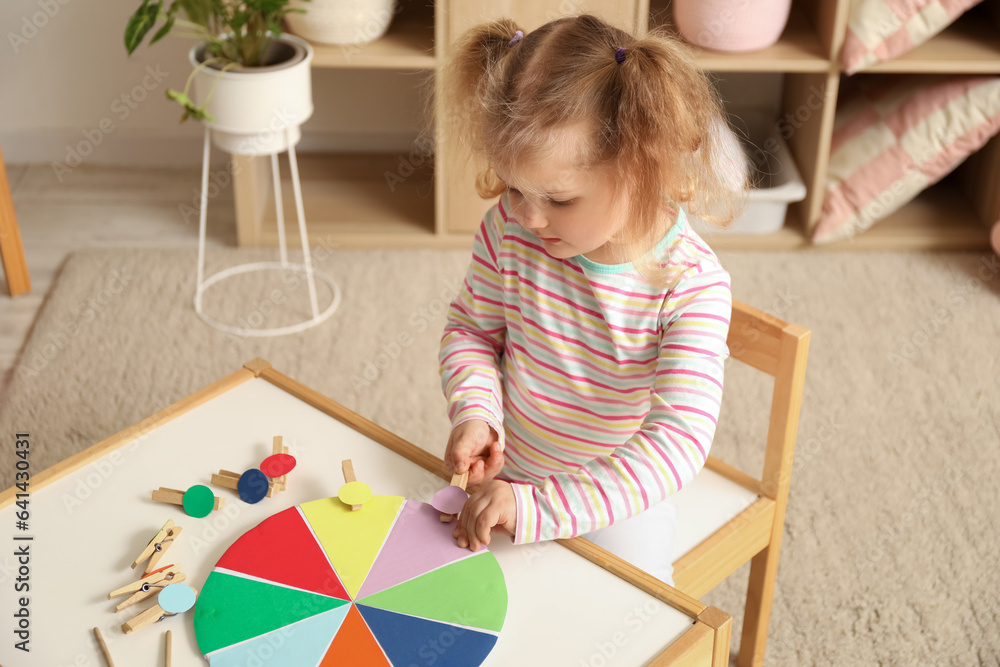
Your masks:
<svg viewBox="0 0 1000 667"><path fill-rule="evenodd" d="M320 44L310 42L315 51L313 67L359 69L434 69L433 9L405 2L393 17L389 30L367 44Z"/></svg>

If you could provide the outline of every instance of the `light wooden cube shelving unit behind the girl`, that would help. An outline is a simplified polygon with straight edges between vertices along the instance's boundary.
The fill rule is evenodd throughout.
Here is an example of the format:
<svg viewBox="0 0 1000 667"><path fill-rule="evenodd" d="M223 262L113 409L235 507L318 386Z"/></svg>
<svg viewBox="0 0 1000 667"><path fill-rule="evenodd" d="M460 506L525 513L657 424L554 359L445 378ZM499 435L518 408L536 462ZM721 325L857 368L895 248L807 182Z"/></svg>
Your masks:
<svg viewBox="0 0 1000 667"><path fill-rule="evenodd" d="M773 46L754 53L715 53L695 48L710 73L781 77L779 119L794 131L786 141L807 189L789 207L774 234L714 234L719 249L980 249L989 246L988 225L1000 219L1000 137L953 174L858 237L813 246L807 231L819 218L826 187L830 140L840 85L846 78L839 51L851 0L793 0L788 24ZM400 0L387 34L362 46L314 44L317 68L426 71L433 76L444 49L466 27L496 16L515 18L530 31L571 6L633 32L670 23L670 0ZM870 73L1000 74L1000 0L985 0L952 26ZM414 109L414 114L421 113ZM778 119L776 119L776 122ZM387 178L404 154L300 155L306 219L312 239L340 247L469 247L492 202L473 188L475 169L447 142L428 156L424 169L402 182ZM266 158L234 157L240 245L276 245L270 167ZM430 166L433 162L433 166ZM234 165L235 166L235 165ZM283 173L287 173L283 169ZM295 242L291 187L284 185L286 229Z"/></svg>

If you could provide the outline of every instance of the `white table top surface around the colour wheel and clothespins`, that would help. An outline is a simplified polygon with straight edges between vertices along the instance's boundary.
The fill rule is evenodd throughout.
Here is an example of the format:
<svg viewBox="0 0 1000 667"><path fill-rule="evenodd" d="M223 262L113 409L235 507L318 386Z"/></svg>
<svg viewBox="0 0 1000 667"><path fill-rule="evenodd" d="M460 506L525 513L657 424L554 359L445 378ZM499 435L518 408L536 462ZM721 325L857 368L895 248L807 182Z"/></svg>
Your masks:
<svg viewBox="0 0 1000 667"><path fill-rule="evenodd" d="M335 398L335 397L334 397ZM220 469L242 472L284 436L298 465L288 489L256 505L212 486L226 506L203 519L153 502L161 486L209 484ZM12 434L11 434L11 437ZM34 447L44 446L33 443ZM11 444L11 449L13 445ZM10 452L7 452L10 455ZM114 611L107 594L135 581L132 561L167 519L183 527L166 563L178 563L200 590L232 542L292 505L335 496L350 458L358 479L377 494L429 502L439 477L372 441L266 380L252 379L126 443L32 493L30 530L15 529L16 506L0 510L0 664L7 667L103 665L92 628L99 627L117 665L160 665L163 634L173 635L173 664L205 665L193 611L125 635L121 624L150 606ZM32 471L37 474L41 471ZM31 535L31 542L15 542ZM16 545L30 545L31 652L14 648ZM508 590L507 618L486 665L641 665L692 626L690 617L603 568L553 543L493 551Z"/></svg>

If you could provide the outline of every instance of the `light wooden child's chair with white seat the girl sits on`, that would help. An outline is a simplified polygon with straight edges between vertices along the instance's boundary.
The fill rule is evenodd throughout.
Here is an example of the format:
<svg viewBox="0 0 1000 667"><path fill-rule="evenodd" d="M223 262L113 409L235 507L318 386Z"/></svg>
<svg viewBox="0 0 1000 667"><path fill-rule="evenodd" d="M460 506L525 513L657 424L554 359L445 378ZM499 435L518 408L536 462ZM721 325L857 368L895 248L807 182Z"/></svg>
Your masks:
<svg viewBox="0 0 1000 667"><path fill-rule="evenodd" d="M749 667L764 661L809 330L737 302L733 304L728 342L734 359L774 378L763 475L756 479L710 456L698 477L673 497L680 508L674 585L700 599L751 561L738 657L740 667ZM712 503L714 517L706 518L713 513L705 509ZM692 527L690 515L698 517L699 513L700 518L693 522L697 525Z"/></svg>

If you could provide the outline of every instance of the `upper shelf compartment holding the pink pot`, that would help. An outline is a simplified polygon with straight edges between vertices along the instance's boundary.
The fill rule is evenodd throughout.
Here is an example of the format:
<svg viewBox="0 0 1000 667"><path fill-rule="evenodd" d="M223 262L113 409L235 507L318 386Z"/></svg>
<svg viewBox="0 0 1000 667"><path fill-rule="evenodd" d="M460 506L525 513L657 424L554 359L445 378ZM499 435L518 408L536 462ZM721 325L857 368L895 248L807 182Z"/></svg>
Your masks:
<svg viewBox="0 0 1000 667"><path fill-rule="evenodd" d="M650 2L650 28L668 25L675 32L671 20L672 9L667 0ZM719 53L690 45L698 64L712 72L826 72L830 61L816 31L792 3L788 25L778 41L760 51Z"/></svg>

